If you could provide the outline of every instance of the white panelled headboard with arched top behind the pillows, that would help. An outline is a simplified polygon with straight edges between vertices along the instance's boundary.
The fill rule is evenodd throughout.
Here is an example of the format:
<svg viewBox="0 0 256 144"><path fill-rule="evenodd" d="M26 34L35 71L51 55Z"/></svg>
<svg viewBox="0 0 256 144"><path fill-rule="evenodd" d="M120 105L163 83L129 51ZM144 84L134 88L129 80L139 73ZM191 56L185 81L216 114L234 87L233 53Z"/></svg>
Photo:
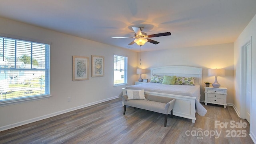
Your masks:
<svg viewBox="0 0 256 144"><path fill-rule="evenodd" d="M196 84L202 85L202 68L192 66L163 66L158 68L151 68L151 76L153 74L159 76L183 76L195 77Z"/></svg>

